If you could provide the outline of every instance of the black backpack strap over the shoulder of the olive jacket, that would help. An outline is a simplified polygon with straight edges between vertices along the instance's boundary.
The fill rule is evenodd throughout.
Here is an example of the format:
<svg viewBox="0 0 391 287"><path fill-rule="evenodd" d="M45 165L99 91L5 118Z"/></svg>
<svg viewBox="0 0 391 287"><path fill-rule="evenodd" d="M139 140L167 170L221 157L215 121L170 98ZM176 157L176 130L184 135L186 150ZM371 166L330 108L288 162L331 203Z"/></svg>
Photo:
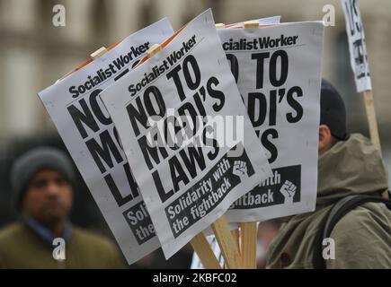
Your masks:
<svg viewBox="0 0 391 287"><path fill-rule="evenodd" d="M391 210L391 200L380 197L380 196L365 196L365 195L355 195L355 196L346 196L339 200L336 204L333 205L332 209L324 216L323 221L320 223L319 231L315 236L315 246L314 246L314 257L313 265L316 269L325 269L325 261L323 258L323 240L329 238L335 224L339 222L342 217L351 212L354 208L360 204L365 204L368 202L373 203L383 203L386 204L387 208Z"/></svg>

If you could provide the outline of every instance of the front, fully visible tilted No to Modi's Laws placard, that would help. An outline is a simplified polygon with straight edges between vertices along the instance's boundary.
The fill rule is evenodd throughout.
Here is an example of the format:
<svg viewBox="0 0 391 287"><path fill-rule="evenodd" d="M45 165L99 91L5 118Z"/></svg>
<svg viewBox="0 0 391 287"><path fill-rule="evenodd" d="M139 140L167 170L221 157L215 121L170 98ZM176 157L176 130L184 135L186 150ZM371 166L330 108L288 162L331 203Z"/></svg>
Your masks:
<svg viewBox="0 0 391 287"><path fill-rule="evenodd" d="M101 98L167 258L271 175L210 9Z"/></svg>

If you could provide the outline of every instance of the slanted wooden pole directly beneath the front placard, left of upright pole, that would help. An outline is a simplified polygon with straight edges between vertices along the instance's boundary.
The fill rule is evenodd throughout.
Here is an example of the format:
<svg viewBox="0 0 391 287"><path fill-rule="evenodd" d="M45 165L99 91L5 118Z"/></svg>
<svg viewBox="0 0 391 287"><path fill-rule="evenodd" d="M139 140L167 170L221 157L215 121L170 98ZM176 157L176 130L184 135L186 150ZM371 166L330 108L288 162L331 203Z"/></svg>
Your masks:
<svg viewBox="0 0 391 287"><path fill-rule="evenodd" d="M222 215L216 222L212 223L212 230L218 240L218 246L227 268L242 268L242 258L229 230L226 215Z"/></svg>

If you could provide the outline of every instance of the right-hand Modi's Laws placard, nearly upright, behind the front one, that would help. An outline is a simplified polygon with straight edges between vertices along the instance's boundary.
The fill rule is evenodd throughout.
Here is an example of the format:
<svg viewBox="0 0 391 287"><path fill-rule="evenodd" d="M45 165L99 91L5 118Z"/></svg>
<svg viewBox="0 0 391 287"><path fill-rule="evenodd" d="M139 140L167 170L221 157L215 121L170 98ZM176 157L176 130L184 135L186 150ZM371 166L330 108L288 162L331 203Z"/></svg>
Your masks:
<svg viewBox="0 0 391 287"><path fill-rule="evenodd" d="M260 222L315 209L322 22L218 30L273 176L227 211Z"/></svg>

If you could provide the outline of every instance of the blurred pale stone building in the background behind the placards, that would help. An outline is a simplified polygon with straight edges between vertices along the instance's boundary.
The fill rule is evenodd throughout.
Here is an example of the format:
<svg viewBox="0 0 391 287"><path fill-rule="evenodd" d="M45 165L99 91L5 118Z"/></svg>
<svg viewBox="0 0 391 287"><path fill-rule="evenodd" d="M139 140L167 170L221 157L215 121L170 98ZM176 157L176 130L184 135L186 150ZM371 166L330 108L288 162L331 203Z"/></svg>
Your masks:
<svg viewBox="0 0 391 287"><path fill-rule="evenodd" d="M52 23L53 6L66 8L66 26ZM43 109L44 89L97 48L124 39L167 16L176 30L211 7L216 22L281 15L281 22L322 20L325 4L335 7L335 26L325 28L323 74L341 91L351 132L369 135L362 96L351 74L340 0L0 0L0 223L9 188L7 170L16 143L55 137ZM391 170L391 1L361 0L369 68L383 154ZM2 206L3 204L3 206ZM3 213L4 214L4 213ZM3 216L4 218L4 216Z"/></svg>

